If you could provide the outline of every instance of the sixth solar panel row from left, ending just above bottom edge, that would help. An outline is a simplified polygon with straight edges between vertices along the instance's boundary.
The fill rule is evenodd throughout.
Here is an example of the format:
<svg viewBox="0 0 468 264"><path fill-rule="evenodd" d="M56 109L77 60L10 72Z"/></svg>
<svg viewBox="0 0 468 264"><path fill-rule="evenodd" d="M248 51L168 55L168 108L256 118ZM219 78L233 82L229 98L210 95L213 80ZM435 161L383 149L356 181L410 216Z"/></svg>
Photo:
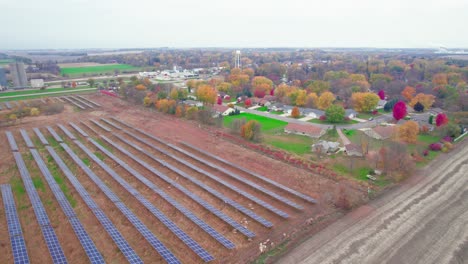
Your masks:
<svg viewBox="0 0 468 264"><path fill-rule="evenodd" d="M95 145L99 145L98 143L94 142L92 139L89 139L90 141L93 142ZM191 239L188 235L186 235L179 227L177 227L175 224L173 224L162 212L160 212L156 207L154 207L149 201L147 201L135 188L133 188L129 183L127 183L122 177L120 177L113 169L111 169L106 163L104 163L101 159L99 159L94 153L92 153L88 148L86 148L81 142L75 140L74 141L78 147L83 150L91 159L93 159L96 163L98 163L99 166L101 166L112 178L114 178L122 187L124 187L129 193L131 193L133 196L135 196L136 199L138 199L143 205L146 206L146 208L151 211L161 222L165 223L166 226L174 233L174 234L179 234L181 235L181 240L184 241L189 247L191 245L194 246L192 250L196 252L197 254L200 253L201 256L206 256L206 251L203 250L193 239ZM180 208L178 208L180 209ZM184 208L185 209L185 208ZM214 229L209 229L210 231L216 232ZM217 235L221 236L216 232ZM230 248L234 247L234 244L232 244L230 241L225 239L224 237L221 236L221 241L226 243L226 245L229 245ZM230 244L229 244L230 243ZM211 257L211 256L210 256ZM212 260L209 259L209 260ZM205 259L205 261L209 261Z"/></svg>

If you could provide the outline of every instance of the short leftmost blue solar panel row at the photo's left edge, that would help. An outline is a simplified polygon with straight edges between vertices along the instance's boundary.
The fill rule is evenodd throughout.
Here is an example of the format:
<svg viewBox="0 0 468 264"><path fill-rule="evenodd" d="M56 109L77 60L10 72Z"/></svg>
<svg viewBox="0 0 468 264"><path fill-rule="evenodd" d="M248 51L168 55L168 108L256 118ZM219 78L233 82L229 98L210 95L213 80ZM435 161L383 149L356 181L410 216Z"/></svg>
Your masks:
<svg viewBox="0 0 468 264"><path fill-rule="evenodd" d="M24 242L23 231L16 212L15 199L11 192L9 184L0 185L2 191L3 205L5 207L5 215L7 219L8 234L10 235L11 250L13 252L13 260L15 264L29 263L28 251Z"/></svg>

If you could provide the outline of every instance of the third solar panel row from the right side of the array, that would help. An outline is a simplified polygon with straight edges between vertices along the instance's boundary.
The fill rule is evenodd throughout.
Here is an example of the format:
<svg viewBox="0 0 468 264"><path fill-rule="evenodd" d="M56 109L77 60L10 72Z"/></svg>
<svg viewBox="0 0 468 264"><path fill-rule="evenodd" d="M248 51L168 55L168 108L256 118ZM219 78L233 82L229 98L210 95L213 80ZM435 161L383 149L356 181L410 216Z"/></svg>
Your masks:
<svg viewBox="0 0 468 264"><path fill-rule="evenodd" d="M121 122L123 123L123 122ZM125 125L125 124L124 124ZM163 154L167 155L167 156L171 156L171 154L169 152L166 152L164 150L161 150L161 149L157 149L155 146L153 146L152 144L150 144L148 141L145 141L143 140L142 138L139 138L131 133L128 133L127 131L124 131L125 133L127 133L129 136L131 136L132 138L136 139L137 141L140 141L142 142L143 144L146 144L148 146L150 146L151 148L153 149L156 149L160 152L162 152ZM182 162L183 164L187 164L185 161L177 158L177 157L174 157L177 161L179 162ZM174 168L174 167L172 167ZM171 169L172 169L171 168ZM196 168L196 167L194 167ZM205 173L208 173L208 172L205 172L203 171L202 169L198 169L198 172L202 173L202 174L205 174ZM180 171L180 170L174 170L176 172ZM218 192L217 190L205 185L204 183L202 183L201 181L193 178L193 177L185 177L186 174L180 174L182 177L188 179L189 181L191 181L192 183L196 184L197 186L201 187L202 189L206 190L207 192L209 192L210 194L214 195L215 197L217 197L218 199L222 200L223 202L225 202L226 204L229 204L230 206L234 207L236 210L242 212L243 214L249 216L250 218L252 218L253 220L257 221L258 223L260 223L261 225L265 226L265 227L273 227L273 224L266 220L265 218L255 214L254 212L252 212L251 210L245 208L244 206L242 206L241 204L233 201L232 199L226 197L225 195L221 194L220 192Z"/></svg>

